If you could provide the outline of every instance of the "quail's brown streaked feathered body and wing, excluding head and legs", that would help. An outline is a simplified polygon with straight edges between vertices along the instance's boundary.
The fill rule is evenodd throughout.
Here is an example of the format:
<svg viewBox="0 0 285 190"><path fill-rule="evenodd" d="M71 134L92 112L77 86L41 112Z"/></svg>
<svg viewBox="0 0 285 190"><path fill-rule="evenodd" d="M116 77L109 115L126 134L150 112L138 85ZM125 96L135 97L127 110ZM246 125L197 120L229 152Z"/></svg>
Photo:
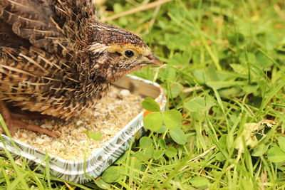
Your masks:
<svg viewBox="0 0 285 190"><path fill-rule="evenodd" d="M76 68L90 22L92 0L0 0L0 100L62 118L93 104Z"/></svg>

